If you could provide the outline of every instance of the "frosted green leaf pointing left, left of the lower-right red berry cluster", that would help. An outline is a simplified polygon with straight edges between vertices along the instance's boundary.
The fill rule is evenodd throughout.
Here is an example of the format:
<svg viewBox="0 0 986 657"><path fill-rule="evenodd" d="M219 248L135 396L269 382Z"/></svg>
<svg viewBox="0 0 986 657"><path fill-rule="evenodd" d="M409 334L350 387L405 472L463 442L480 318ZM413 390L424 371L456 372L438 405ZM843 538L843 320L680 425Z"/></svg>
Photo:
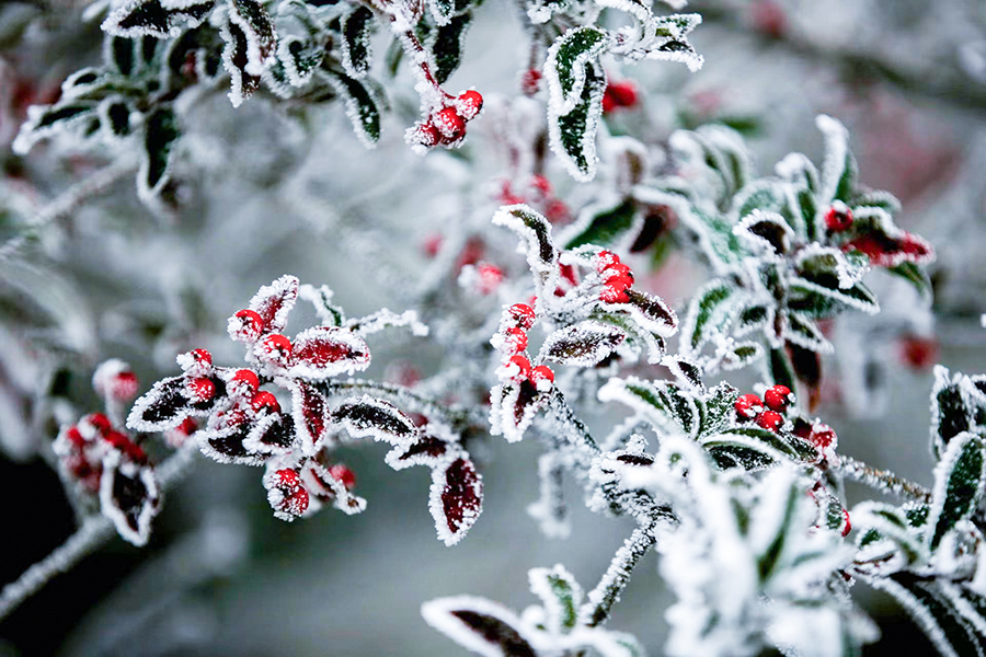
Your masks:
<svg viewBox="0 0 986 657"><path fill-rule="evenodd" d="M610 379L599 389L600 402L623 403L646 418L661 435L695 437L700 415L695 400L672 383L644 381L635 377Z"/></svg>

